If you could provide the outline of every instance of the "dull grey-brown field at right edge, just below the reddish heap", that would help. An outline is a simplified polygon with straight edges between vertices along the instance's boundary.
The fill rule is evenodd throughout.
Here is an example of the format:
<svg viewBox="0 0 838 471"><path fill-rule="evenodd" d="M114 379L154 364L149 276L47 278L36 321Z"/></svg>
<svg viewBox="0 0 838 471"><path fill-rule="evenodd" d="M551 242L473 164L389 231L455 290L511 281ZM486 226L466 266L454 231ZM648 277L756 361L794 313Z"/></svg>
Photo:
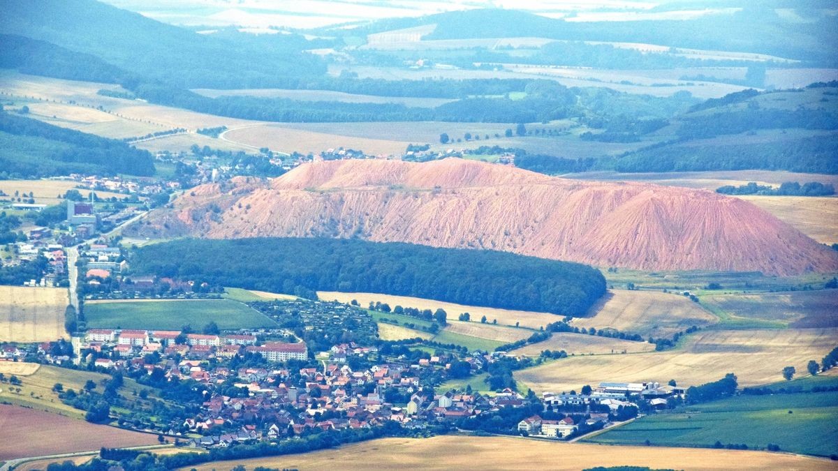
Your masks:
<svg viewBox="0 0 838 471"><path fill-rule="evenodd" d="M701 302L733 319L779 321L791 327L838 327L838 290L706 294Z"/></svg>

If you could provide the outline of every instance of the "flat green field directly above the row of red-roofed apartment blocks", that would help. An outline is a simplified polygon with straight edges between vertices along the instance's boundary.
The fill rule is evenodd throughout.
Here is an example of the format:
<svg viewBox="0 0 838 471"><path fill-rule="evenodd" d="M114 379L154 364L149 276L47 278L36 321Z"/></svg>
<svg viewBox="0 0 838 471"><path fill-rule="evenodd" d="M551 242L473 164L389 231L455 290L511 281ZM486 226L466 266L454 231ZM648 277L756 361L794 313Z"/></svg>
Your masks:
<svg viewBox="0 0 838 471"><path fill-rule="evenodd" d="M275 327L270 318L230 299L85 303L87 326L103 329L200 329L215 322L220 329Z"/></svg>

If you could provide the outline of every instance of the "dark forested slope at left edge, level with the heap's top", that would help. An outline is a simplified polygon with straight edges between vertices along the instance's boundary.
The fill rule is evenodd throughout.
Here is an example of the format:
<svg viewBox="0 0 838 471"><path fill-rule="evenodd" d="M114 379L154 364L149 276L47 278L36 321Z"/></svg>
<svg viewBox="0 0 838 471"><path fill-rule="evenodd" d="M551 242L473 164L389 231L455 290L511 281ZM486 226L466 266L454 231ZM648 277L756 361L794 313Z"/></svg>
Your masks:
<svg viewBox="0 0 838 471"><path fill-rule="evenodd" d="M0 111L0 178L69 173L154 174L150 153L125 142Z"/></svg>

